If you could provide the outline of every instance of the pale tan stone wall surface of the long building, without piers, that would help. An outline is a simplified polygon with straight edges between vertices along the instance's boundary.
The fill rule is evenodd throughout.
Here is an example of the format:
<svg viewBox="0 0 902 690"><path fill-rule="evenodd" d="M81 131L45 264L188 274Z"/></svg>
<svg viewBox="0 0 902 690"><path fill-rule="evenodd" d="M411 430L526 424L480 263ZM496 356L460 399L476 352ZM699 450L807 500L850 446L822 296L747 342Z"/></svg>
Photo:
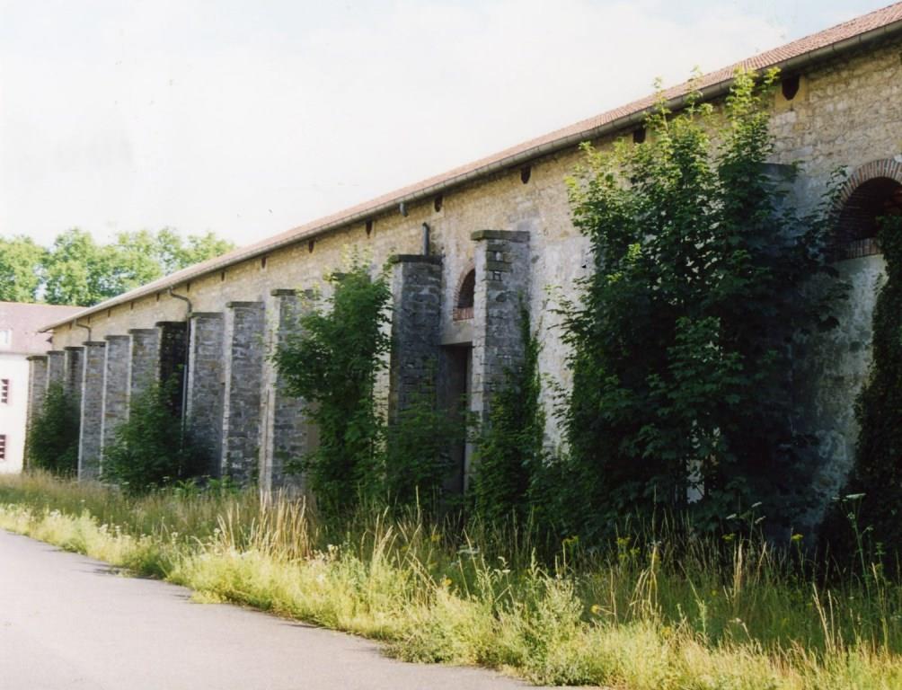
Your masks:
<svg viewBox="0 0 902 690"><path fill-rule="evenodd" d="M897 39L870 46L866 51L847 53L806 68L799 92L792 100L777 89L772 102L771 130L776 137L773 160L800 164L803 206L818 202L837 167L854 170L870 161L902 157L900 53L902 41ZM629 141L630 133L624 130L594 144L604 150L617 139ZM441 326L445 342L456 337L451 308L462 275L474 263L481 262L482 270L488 270L489 259L482 255L487 240L473 242L471 234L481 228L526 233L529 244L522 243L517 253L521 254L518 261L529 268L526 290L532 326L541 345L539 368L566 390L570 383L566 345L561 341L559 317L553 308L557 306L556 293L575 296L575 281L591 263L587 260L588 243L570 219L564 181L581 160L575 147L538 158L523 169L511 168L446 190L441 198L408 204L403 213L399 208L370 218L369 224L362 220L312 240L301 238L296 244L270 253L265 262L255 258L224 271L194 277L176 286L175 291L191 299L198 311L218 312L228 301L268 301L272 290L317 289L324 273L342 267L348 247L371 257L373 271L379 270L393 254L418 253L420 227L428 223L433 252L442 259ZM249 237L253 231L248 228ZM835 485L847 466L842 456L847 451L831 448L851 447L857 432L848 409L860 389L861 372L867 370L870 362L870 343L862 340L866 332L855 324L868 319L874 299L871 288L881 269L879 257L869 257L863 264L868 267L856 274L861 279L855 279L858 287L853 288L853 299L861 300L852 307L856 321L847 324L848 330L832 336L842 357L829 354L829 348L815 355L824 357L815 366L820 365L828 376L831 372L838 374L836 385L830 383L816 393L815 397L824 404L816 403L821 412L806 422L811 425L808 430L827 441L824 468L830 479L825 487ZM851 264L849 267L853 268ZM477 290L483 289L486 286L480 281ZM483 294L488 295L488 290ZM483 297L477 295L477 309L481 300ZM161 291L93 314L82 319L82 323L87 322L97 337L103 337L124 333L128 328L152 327L158 321L178 321L184 312L183 301ZM486 337L490 335L487 330ZM82 331L77 327L60 327L54 332L53 346L61 349L81 345L81 337ZM494 376L488 373L493 371L493 365L477 361L475 349L474 346L474 377L480 377L481 388L474 390L474 403L484 409L485 384ZM553 391L547 387L543 391L547 409L552 400ZM271 397L264 394L262 405L269 404ZM560 431L554 416L548 414L547 418L548 444L557 446L562 442ZM824 488L824 492L829 491Z"/></svg>

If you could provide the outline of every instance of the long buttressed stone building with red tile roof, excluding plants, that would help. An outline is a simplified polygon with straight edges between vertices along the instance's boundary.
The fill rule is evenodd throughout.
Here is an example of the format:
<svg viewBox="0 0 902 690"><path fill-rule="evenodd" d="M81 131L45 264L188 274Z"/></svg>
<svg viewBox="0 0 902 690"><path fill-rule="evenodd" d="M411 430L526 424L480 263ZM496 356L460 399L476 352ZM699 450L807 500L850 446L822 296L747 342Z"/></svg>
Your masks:
<svg viewBox="0 0 902 690"><path fill-rule="evenodd" d="M815 492L826 497L851 465L851 402L870 358L874 289L884 272L874 218L899 204L902 189L902 4L705 75L697 84L704 99L723 103L740 66L780 69L773 162L800 164L794 197L802 207L820 200L833 170L850 175L838 267L852 298L842 327L812 348L815 385L804 401L804 424L824 456ZM688 90L667 90L667 105L684 106ZM281 483L284 460L312 447L316 429L302 404L286 397L266 355L305 308L305 291L342 266L348 247L374 268L391 265L394 348L383 391L390 407L437 377L446 399L465 393L474 413L484 413L504 366L520 356L520 300L541 339L542 371L566 387L566 350L550 307L556 290L573 294L587 244L571 222L564 180L581 160L580 143L640 141L654 101L548 133L48 325L50 360L79 348L84 361L81 476L97 474L129 397L184 363L184 413L219 458L211 469L244 477L255 468L264 486ZM33 362L35 380L45 366ZM551 391L543 395L548 404ZM548 419L555 446L561 439ZM466 455L459 449L461 482Z"/></svg>

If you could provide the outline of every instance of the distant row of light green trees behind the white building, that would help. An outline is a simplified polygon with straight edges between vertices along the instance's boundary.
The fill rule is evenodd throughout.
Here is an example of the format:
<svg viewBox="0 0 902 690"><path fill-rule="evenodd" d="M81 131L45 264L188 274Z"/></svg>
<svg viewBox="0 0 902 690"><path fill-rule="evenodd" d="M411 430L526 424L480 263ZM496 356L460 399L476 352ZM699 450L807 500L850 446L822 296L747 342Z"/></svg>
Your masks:
<svg viewBox="0 0 902 690"><path fill-rule="evenodd" d="M0 300L90 307L234 246L212 232L184 237L171 228L119 233L107 244L78 228L50 247L0 237Z"/></svg>

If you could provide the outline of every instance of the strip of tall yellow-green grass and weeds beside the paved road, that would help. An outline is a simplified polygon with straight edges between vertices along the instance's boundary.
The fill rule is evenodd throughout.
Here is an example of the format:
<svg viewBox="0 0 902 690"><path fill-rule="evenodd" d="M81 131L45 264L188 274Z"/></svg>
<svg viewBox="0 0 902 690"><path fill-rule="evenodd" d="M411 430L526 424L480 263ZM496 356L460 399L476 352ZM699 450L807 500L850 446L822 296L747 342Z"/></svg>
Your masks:
<svg viewBox="0 0 902 690"><path fill-rule="evenodd" d="M342 528L255 492L129 498L35 474L0 479L0 527L187 585L201 602L538 684L902 687L902 587L879 568L825 580L800 554L676 538L684 530L667 524L604 552L567 540L555 557L513 525L460 535L416 514L361 511Z"/></svg>

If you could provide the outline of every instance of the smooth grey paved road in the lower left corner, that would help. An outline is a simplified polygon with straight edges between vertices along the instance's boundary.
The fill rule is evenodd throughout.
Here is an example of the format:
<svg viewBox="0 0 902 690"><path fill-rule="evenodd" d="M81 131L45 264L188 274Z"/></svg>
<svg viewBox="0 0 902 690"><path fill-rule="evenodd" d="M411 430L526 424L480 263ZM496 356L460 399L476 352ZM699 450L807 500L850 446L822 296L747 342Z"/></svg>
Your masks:
<svg viewBox="0 0 902 690"><path fill-rule="evenodd" d="M2 690L507 690L474 668L403 664L364 639L123 577L0 529Z"/></svg>

